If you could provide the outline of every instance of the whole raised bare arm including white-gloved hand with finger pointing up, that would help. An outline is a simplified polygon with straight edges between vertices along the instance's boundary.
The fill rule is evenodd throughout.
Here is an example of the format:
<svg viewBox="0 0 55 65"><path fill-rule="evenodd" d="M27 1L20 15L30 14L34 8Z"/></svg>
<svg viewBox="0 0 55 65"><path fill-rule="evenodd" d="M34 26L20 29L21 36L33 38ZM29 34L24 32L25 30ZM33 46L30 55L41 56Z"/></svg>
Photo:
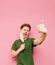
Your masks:
<svg viewBox="0 0 55 65"><path fill-rule="evenodd" d="M44 19L42 20L42 23L37 26L37 30L39 33L42 33L41 37L34 40L34 45L40 45L45 40L47 35L47 28L44 24Z"/></svg>

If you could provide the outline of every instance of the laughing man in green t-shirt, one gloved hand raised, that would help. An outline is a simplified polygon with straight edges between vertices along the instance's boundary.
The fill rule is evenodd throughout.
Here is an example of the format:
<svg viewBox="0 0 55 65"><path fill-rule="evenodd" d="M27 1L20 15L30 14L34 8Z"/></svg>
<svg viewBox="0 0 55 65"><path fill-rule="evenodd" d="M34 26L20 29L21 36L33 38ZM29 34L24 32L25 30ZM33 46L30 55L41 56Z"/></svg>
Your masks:
<svg viewBox="0 0 55 65"><path fill-rule="evenodd" d="M16 40L12 45L12 57L18 57L17 65L34 65L33 62L33 47L40 45L46 35L47 29L44 24L38 25L38 32L42 33L39 39L29 38L31 26L29 24L23 24L20 27L21 34L20 39Z"/></svg>

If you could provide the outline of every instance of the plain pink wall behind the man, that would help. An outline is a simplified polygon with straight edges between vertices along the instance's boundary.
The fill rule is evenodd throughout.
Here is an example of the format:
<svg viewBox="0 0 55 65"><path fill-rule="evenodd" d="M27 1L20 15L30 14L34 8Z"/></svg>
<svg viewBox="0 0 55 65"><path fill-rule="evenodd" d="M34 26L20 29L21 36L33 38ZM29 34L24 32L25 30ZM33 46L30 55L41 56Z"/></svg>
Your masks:
<svg viewBox="0 0 55 65"><path fill-rule="evenodd" d="M35 65L55 65L55 0L0 0L0 65L16 65L11 46L19 38L22 23L32 26L31 37L38 38L37 24L45 19L48 35L34 48Z"/></svg>

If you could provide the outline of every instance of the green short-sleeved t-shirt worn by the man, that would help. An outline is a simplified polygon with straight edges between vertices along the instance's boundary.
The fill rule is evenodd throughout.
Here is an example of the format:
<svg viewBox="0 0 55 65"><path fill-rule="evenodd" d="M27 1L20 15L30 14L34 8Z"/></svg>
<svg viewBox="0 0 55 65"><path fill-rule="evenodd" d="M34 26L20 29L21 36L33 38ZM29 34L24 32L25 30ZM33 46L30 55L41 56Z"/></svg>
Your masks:
<svg viewBox="0 0 55 65"><path fill-rule="evenodd" d="M24 41L25 49L18 54L17 65L34 65L32 56L34 47L33 41L34 38L27 38ZM12 45L12 49L16 51L21 46L21 44L23 43L20 39L16 40Z"/></svg>

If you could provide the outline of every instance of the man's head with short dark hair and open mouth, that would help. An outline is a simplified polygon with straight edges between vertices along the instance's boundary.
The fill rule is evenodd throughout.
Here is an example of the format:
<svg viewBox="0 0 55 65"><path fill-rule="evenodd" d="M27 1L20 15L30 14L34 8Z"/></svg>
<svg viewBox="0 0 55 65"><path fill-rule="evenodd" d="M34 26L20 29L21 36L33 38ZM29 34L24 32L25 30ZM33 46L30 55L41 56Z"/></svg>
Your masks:
<svg viewBox="0 0 55 65"><path fill-rule="evenodd" d="M27 38L29 36L29 33L31 31L31 26L30 24L22 24L21 27L20 27L20 30L24 36L24 38Z"/></svg>

